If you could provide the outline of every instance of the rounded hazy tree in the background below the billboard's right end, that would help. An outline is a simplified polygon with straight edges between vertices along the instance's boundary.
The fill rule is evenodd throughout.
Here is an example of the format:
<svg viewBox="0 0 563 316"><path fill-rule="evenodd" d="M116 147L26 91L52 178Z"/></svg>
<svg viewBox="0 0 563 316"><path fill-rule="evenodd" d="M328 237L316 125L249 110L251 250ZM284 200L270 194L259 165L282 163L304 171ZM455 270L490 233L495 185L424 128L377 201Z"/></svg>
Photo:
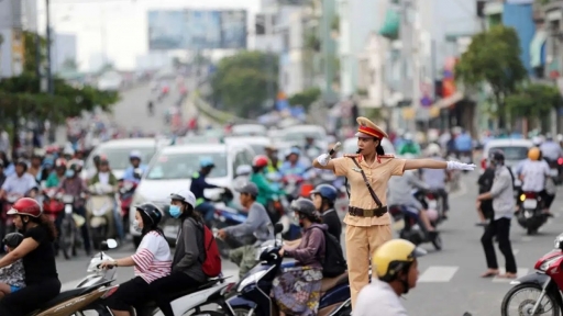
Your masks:
<svg viewBox="0 0 563 316"><path fill-rule="evenodd" d="M216 101L238 116L247 117L277 92L277 57L261 52L242 52L219 61L211 79Z"/></svg>

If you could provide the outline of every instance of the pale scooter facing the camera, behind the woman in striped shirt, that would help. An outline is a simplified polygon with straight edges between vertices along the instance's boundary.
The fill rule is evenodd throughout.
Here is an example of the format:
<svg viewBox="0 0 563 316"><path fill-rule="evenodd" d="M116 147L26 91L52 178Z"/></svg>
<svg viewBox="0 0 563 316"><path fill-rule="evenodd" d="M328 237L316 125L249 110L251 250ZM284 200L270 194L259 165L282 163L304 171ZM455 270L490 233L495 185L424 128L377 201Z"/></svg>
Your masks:
<svg viewBox="0 0 563 316"><path fill-rule="evenodd" d="M86 203L88 214L89 228L92 239L93 249L100 249L101 242L108 237L114 235L113 227L113 208L115 207L115 198L109 195L113 192L113 188L109 184L100 182L90 185L88 191L92 193Z"/></svg>

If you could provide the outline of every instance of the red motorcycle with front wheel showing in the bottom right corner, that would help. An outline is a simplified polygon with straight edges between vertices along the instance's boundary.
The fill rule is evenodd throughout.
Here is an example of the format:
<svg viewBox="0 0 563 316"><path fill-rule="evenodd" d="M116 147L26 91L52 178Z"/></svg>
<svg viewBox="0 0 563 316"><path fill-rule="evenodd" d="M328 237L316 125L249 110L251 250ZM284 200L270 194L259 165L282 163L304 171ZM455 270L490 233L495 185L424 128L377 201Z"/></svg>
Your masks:
<svg viewBox="0 0 563 316"><path fill-rule="evenodd" d="M554 240L554 248L538 259L536 272L510 282L515 285L506 293L500 305L500 315L553 315L563 309L563 234ZM523 302L516 302L516 311L509 314L510 303L521 292L531 292ZM533 293L533 295L531 295ZM514 308L511 308L514 309Z"/></svg>

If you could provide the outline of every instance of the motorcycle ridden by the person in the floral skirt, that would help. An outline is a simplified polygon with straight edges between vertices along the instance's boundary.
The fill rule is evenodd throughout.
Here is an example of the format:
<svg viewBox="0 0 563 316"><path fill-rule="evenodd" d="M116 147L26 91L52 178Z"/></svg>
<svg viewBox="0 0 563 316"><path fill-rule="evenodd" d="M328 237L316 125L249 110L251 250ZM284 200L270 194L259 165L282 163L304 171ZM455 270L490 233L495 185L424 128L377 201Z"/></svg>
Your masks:
<svg viewBox="0 0 563 316"><path fill-rule="evenodd" d="M275 235L279 235L283 226L274 226ZM228 312L232 316L254 315L269 316L277 315L277 307L269 296L273 281L279 271L295 266L295 262L283 262L278 255L282 248L282 240L273 240L264 245L257 252L256 264L235 285L235 293L227 301ZM319 315L343 316L351 315L352 303L350 297L350 284L347 272L336 278L322 279L319 301Z"/></svg>

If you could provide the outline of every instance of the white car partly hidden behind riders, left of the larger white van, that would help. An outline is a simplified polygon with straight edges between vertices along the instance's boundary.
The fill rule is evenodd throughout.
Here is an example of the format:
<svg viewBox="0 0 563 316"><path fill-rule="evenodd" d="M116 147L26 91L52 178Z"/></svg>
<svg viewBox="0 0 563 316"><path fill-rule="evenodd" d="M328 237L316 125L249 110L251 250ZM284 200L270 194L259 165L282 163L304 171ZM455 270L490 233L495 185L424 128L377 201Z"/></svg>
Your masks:
<svg viewBox="0 0 563 316"><path fill-rule="evenodd" d="M155 138L124 138L124 139L112 139L98 145L92 153L86 159L82 173L82 179L90 179L96 173L96 167L93 166L93 157L104 156L110 162L111 171L118 179L123 177L125 169L131 166L129 161L129 154L133 150L141 151L143 155L141 161L147 165L151 161L154 153L159 147L168 145L169 139L157 140Z"/></svg>

